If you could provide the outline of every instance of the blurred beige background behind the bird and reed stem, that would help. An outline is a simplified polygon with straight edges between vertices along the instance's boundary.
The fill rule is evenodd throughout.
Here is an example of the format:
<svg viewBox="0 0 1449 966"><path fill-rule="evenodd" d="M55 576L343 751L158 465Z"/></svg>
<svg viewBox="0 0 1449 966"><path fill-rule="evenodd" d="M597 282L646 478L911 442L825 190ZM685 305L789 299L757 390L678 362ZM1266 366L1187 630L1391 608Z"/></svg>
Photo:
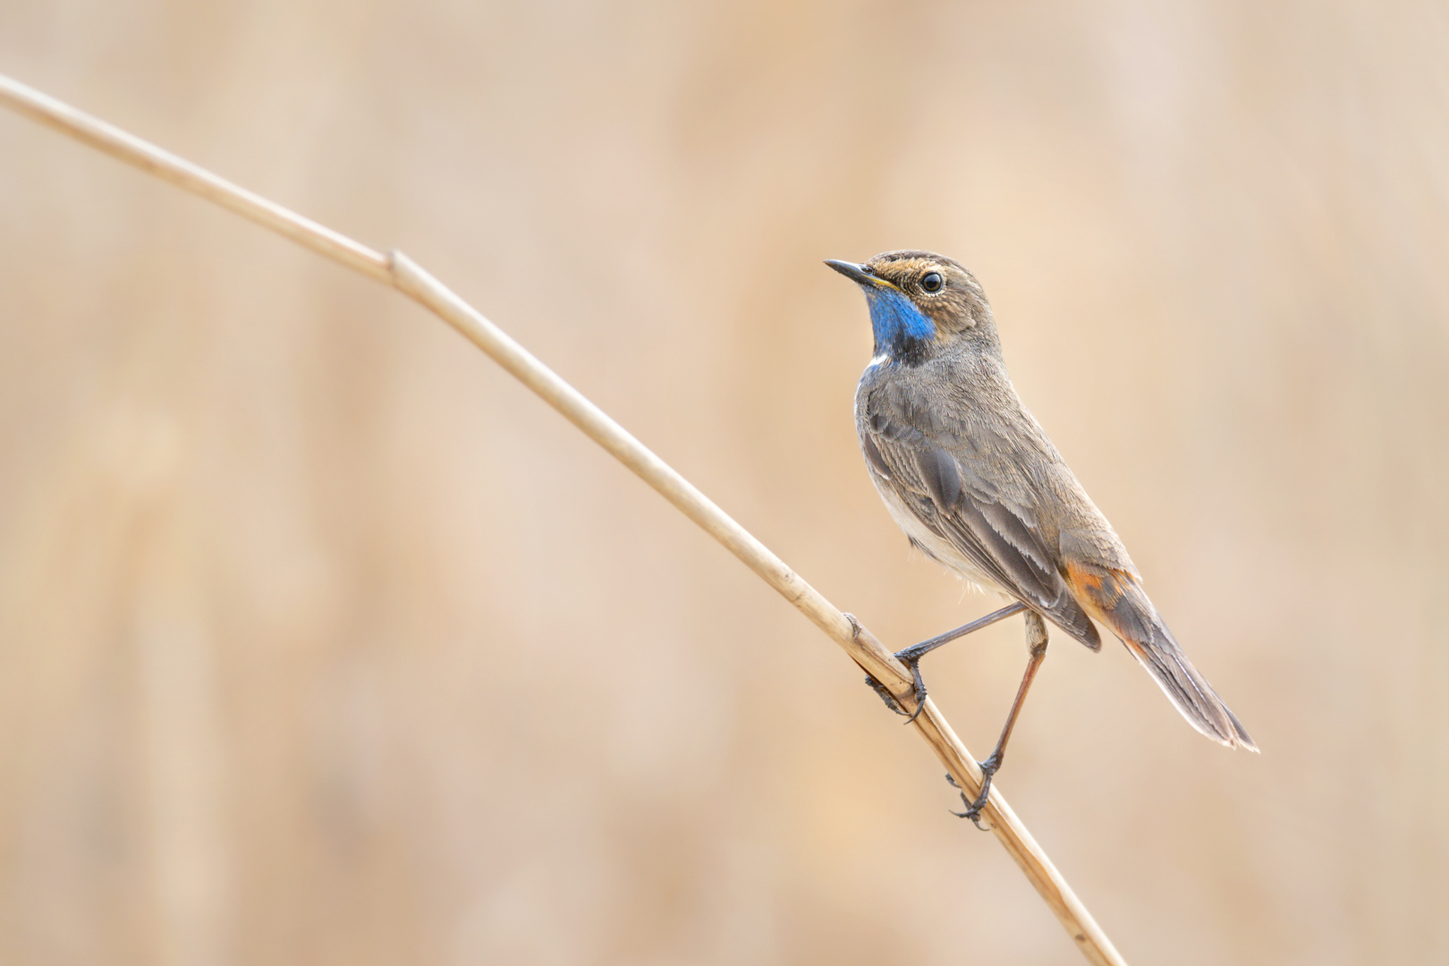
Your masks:
<svg viewBox="0 0 1449 966"><path fill-rule="evenodd" d="M0 0L0 71L404 248L894 646L993 601L820 259L962 259L1264 749L1059 639L1003 791L1130 962L1449 962L1443 4ZM1023 660L929 660L977 753ZM442 323L0 114L0 962L1078 962L953 804Z"/></svg>

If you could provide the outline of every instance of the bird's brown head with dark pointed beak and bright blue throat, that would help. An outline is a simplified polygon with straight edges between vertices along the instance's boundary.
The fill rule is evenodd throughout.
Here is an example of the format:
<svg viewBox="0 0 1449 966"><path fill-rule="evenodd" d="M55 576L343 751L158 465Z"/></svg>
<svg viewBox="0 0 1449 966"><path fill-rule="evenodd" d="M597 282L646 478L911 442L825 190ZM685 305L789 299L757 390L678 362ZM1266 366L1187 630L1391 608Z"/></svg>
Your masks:
<svg viewBox="0 0 1449 966"><path fill-rule="evenodd" d="M995 348L995 323L981 282L935 252L881 252L868 262L826 265L861 287L871 307L875 356L920 365L953 343Z"/></svg>

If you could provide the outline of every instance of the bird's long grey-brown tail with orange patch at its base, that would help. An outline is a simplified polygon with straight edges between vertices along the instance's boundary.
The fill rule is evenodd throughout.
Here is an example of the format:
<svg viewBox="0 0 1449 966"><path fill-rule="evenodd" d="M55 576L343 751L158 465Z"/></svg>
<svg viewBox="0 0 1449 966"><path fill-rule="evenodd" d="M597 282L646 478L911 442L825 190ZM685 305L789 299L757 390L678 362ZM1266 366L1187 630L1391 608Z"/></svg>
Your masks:
<svg viewBox="0 0 1449 966"><path fill-rule="evenodd" d="M1178 647L1137 581L1124 571L1071 563L1068 582L1088 614L1110 627L1194 728L1227 747L1258 746L1213 685Z"/></svg>

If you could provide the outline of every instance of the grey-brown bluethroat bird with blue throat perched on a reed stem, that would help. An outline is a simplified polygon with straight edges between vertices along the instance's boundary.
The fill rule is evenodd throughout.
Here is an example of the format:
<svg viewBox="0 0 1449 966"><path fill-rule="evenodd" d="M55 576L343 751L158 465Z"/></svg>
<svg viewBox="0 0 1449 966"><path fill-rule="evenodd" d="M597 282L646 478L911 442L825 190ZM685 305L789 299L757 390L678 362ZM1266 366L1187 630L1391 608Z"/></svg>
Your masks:
<svg viewBox="0 0 1449 966"><path fill-rule="evenodd" d="M975 277L933 252L884 252L859 265L833 259L826 265L856 282L871 310L874 358L855 390L855 429L871 482L913 546L1013 601L895 655L916 681L910 718L926 698L920 676L926 653L1013 614L1026 616L1026 673L995 750L981 763L981 795L966 801L962 792L966 811L958 814L977 821L987 802L1046 656L1046 621L1100 650L1093 626L1098 621L1142 662L1188 724L1214 742L1256 752L1148 600L1107 517L1022 404ZM900 711L878 682L871 684Z"/></svg>

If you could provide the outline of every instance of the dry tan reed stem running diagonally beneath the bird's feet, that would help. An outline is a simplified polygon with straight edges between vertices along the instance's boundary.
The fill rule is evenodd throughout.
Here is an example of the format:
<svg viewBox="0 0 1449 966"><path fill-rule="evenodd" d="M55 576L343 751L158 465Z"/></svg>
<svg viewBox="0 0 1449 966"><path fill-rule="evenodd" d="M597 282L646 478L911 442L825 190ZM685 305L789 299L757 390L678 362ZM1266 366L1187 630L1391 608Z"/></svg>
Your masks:
<svg viewBox="0 0 1449 966"><path fill-rule="evenodd" d="M590 403L578 390L401 252L393 251L384 255L372 251L3 74L0 74L0 104L214 201L319 255L387 282L422 303L543 397L543 401L613 453L640 479L658 490L684 516L723 543L730 553L743 560L761 579L780 591L787 601L800 608L820 630L840 644L855 663L877 681L884 682L901 707L914 707L910 673L874 634L852 617L836 610L830 601L785 566L784 560L714 505L672 466L655 456L649 448ZM924 711L916 718L916 728L935 750L946 770L968 795L975 797L981 788L981 768L929 698ZM1111 940L1097 925L1087 907L1077 898L1066 879L1046 857L1022 820L1006 804L995 785L991 788L991 797L982 815L990 821L997 839L1016 859L1022 872L1036 886L1037 894L1051 907L1087 960L1100 965L1124 965Z"/></svg>

